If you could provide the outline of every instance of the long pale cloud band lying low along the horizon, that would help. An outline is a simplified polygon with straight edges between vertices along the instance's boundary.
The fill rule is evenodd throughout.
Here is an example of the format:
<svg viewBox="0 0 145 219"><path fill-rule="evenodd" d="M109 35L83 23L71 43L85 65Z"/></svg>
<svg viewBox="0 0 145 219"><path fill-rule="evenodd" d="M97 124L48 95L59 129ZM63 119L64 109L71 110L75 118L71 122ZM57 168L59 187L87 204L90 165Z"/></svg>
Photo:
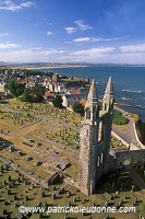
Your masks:
<svg viewBox="0 0 145 219"><path fill-rule="evenodd" d="M17 46L17 45L16 45ZM14 44L9 45L11 50L0 49L0 60L16 62L74 62L87 61L94 64L145 64L145 53L120 53L119 47L102 46L89 49L65 50L62 48L19 48ZM0 44L0 48L3 48ZM13 48L13 49L12 49Z"/></svg>

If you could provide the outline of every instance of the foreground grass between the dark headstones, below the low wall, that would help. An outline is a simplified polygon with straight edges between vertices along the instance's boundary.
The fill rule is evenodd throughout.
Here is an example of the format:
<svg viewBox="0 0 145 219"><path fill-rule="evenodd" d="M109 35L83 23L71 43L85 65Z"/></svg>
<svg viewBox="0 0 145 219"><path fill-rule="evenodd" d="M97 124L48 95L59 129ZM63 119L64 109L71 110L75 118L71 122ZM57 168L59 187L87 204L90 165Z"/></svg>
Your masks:
<svg viewBox="0 0 145 219"><path fill-rule="evenodd" d="M0 165L4 165L0 161ZM8 182L8 176L11 175L12 180L10 183L13 182L13 186L11 187L11 195L8 195L8 187L10 183ZM17 178L20 177L21 182L17 182ZM126 180L128 178L128 180ZM3 182L7 181L7 185L3 184ZM116 185L113 189L110 189L109 184L112 182L116 182ZM120 185L121 183L124 183L123 191L120 192ZM84 194L78 192L75 187L70 185L64 185L63 182L59 182L53 186L47 188L43 188L40 185L37 185L34 183L34 188L31 188L32 181L27 180L27 184L25 185L24 182L22 182L22 175L20 176L17 172L15 172L13 169L9 166L9 170L3 173L0 173L0 183L1 183L1 198L0 198L0 218L3 218L3 210L7 209L7 212L11 215L11 218L16 218L16 215L19 212L19 206L27 206L27 207L34 207L38 203L41 203L43 206L46 204L50 207L57 207L57 206L68 206L68 203L71 203L71 205L74 207L76 205L84 206L84 207L92 207L95 203L97 206L104 206L106 198L104 196L104 193L106 191L109 191L110 195L114 195L116 191L119 191L118 197L113 200L109 201L109 206L113 207L117 206L117 204L123 198L124 195L128 196L128 199L122 204L124 207L132 206L132 201L137 198L137 206L136 206L136 212L135 214L109 214L110 217L116 217L118 219L126 218L126 219L137 219L141 211L144 211L145 204L144 198L145 194L135 187L135 192L131 193L131 186L132 186L132 180L130 177L130 174L125 171L120 171L114 176L105 178L105 183L102 185L98 186L98 193L94 194L89 197L86 197ZM64 187L64 192L62 194L59 194L59 191ZM24 193L26 191L26 193ZM41 192L45 191L45 197L41 196ZM68 191L70 192L70 196L67 197ZM16 201L17 207L14 207L14 194L16 195ZM56 194L57 198L52 200L52 194ZM26 200L26 195L28 197L28 200ZM73 203L73 198L75 196L75 203ZM8 200L9 205L4 205L4 201ZM88 219L90 216L93 219L102 219L107 214L88 214L87 216L84 216L83 218ZM61 219L64 218L64 214L43 214L45 218L51 218L51 219ZM128 216L128 217L126 217ZM77 218L81 219L81 214L69 214L69 217L71 218ZM31 219L38 219L39 214L33 214L31 216Z"/></svg>

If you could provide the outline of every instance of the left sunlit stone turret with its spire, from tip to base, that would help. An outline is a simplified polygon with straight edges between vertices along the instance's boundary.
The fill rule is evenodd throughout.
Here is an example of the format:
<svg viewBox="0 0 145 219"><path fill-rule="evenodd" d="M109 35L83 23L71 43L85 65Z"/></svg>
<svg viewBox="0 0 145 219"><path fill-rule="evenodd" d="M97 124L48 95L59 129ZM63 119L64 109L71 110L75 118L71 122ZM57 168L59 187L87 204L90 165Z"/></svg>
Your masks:
<svg viewBox="0 0 145 219"><path fill-rule="evenodd" d="M96 160L97 160L97 119L98 119L98 97L96 83L93 80L85 105L85 116L80 131L80 173L78 183L81 191L86 195L92 195L96 185Z"/></svg>

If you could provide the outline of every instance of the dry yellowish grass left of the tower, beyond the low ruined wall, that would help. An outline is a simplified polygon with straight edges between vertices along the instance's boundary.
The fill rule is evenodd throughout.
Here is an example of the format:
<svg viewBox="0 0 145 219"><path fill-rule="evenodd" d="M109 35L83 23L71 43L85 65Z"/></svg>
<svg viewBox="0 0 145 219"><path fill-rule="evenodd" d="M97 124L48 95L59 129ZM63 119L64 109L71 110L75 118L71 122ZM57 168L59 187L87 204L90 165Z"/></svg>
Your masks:
<svg viewBox="0 0 145 219"><path fill-rule="evenodd" d="M22 117L28 114L34 115L34 119L38 119L38 116L43 116L43 120L33 124L31 123L31 116L28 116L28 126L23 127L22 124L13 124L13 119L11 119L10 116L12 113L10 113L9 110L11 110L12 113L21 112ZM49 173L46 172L45 168L50 166L56 169L56 163L43 162L39 166L36 166L34 163L36 161L41 161L53 151L60 153L60 158L70 158L71 160L69 162L73 166L72 158L76 157L75 152L64 150L63 148L59 146L57 147L53 143L62 143L64 147L75 150L76 142L74 141L74 138L78 141L77 131L74 131L65 126L65 122L68 125L72 125L75 128L81 120L78 115L75 116L75 114L72 112L53 108L53 106L48 104L29 104L13 99L9 100L4 106L1 106L1 116L4 117L7 114L8 118L0 118L0 128L8 129L11 132L11 135L1 134L1 137L14 145L15 149L22 150L25 155L19 158L16 151L10 153L8 149L1 150L0 155L3 155L8 160L12 160L22 168L34 172L38 176L41 176L44 180L49 177ZM60 123L61 118L63 118L64 124ZM63 140L60 136L62 130L64 130ZM48 132L48 135L46 132ZM29 142L29 139L34 141L32 147L25 145ZM49 139L51 139L50 142L47 141ZM36 142L39 143L39 147L36 145ZM39 151L39 154L37 155L33 151ZM14 157L16 159L14 159ZM31 157L32 160L26 161L26 157Z"/></svg>

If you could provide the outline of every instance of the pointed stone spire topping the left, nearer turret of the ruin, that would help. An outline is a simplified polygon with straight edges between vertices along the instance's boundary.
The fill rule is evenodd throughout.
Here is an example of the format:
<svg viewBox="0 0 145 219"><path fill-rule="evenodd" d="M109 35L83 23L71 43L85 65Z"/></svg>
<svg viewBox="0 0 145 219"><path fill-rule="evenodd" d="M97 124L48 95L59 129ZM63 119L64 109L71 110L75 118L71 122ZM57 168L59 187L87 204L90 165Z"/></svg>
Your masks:
<svg viewBox="0 0 145 219"><path fill-rule="evenodd" d="M87 96L87 103L96 104L97 102L98 102L98 96L96 92L96 82L95 80L93 80L90 89L89 89L89 93Z"/></svg>

